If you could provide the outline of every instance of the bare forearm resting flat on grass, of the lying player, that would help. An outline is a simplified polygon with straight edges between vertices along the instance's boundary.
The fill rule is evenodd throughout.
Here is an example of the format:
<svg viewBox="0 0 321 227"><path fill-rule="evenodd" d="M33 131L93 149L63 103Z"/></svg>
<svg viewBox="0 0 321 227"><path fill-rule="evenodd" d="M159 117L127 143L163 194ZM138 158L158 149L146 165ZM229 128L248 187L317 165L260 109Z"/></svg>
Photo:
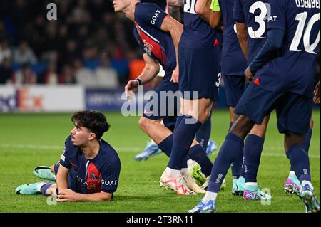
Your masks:
<svg viewBox="0 0 321 227"><path fill-rule="evenodd" d="M64 189L58 194L58 202L76 202L76 201L110 201L112 194L101 191L93 194L76 193L71 189Z"/></svg>

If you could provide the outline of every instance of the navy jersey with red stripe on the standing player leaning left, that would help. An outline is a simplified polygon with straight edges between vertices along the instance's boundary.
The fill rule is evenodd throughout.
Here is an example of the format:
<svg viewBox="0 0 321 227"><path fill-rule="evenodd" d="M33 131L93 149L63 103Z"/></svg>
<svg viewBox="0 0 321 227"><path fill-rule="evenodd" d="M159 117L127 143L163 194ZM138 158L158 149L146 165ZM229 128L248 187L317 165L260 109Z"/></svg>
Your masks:
<svg viewBox="0 0 321 227"><path fill-rule="evenodd" d="M156 4L138 3L134 16L134 36L141 49L163 66L164 80L170 78L176 67L175 46L170 33L161 30L168 14Z"/></svg>

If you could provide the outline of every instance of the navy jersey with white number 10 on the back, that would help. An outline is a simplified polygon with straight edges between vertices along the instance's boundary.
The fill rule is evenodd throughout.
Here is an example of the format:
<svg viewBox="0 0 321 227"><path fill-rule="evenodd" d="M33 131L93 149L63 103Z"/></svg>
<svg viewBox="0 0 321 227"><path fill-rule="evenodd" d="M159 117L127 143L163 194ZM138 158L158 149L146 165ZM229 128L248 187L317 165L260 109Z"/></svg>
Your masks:
<svg viewBox="0 0 321 227"><path fill-rule="evenodd" d="M312 96L317 51L320 47L320 0L270 0L268 29L285 31L280 56L270 60L256 77L270 91Z"/></svg>

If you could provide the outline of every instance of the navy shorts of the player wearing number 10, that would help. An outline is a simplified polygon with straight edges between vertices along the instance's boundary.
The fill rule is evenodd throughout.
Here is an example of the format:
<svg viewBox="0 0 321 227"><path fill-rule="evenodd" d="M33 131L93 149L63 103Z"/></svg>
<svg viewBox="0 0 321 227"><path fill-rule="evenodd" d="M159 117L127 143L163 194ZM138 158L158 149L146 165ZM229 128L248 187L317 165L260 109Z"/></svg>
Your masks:
<svg viewBox="0 0 321 227"><path fill-rule="evenodd" d="M305 134L309 129L312 114L312 98L295 93L275 93L263 90L251 83L235 107L235 114L245 115L256 124L272 110L277 113L277 128L280 133Z"/></svg>

